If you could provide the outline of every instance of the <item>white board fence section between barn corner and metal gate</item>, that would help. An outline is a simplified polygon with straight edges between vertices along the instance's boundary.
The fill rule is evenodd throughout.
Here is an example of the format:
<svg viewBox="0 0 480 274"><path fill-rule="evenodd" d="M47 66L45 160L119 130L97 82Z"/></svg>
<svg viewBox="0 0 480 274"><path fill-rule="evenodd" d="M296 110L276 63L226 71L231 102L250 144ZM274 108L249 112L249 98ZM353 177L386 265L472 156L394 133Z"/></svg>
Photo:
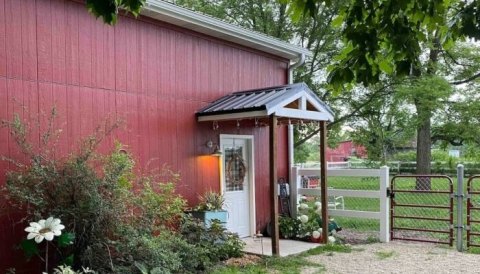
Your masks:
<svg viewBox="0 0 480 274"><path fill-rule="evenodd" d="M300 196L316 196L320 197L320 188L303 188L302 176L320 176L318 168L299 168L292 167L290 182L291 183L291 211L294 217L297 216L297 205ZM329 189L328 178L334 176L341 177L378 177L380 182L379 190L351 190L351 189ZM358 197L358 198L378 198L380 199L380 211L356 211L356 210L340 210L328 209L329 216L343 216L363 219L380 220L380 241L390 241L389 214L390 199L387 197L387 188L389 184L389 168L384 166L380 169L330 169L327 170L327 195Z"/></svg>

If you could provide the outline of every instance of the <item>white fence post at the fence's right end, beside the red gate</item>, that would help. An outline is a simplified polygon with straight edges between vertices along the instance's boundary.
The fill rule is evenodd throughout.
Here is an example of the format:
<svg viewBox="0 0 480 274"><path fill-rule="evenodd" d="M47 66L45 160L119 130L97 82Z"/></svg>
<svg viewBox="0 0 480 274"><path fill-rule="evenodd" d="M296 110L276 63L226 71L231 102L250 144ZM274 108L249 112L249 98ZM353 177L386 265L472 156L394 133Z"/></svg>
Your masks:
<svg viewBox="0 0 480 274"><path fill-rule="evenodd" d="M390 181L388 166L380 167L380 242L390 242L390 197L387 196Z"/></svg>

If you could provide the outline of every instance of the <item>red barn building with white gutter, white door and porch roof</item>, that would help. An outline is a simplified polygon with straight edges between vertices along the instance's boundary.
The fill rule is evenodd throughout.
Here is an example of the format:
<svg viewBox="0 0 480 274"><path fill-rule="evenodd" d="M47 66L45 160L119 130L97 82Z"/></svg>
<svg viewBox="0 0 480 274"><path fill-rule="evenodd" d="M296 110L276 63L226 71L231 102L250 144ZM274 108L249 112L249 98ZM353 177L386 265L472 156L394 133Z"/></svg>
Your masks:
<svg viewBox="0 0 480 274"><path fill-rule="evenodd" d="M105 117L124 118L126 129L106 140L102 151L117 139L141 168L169 165L181 174L177 190L191 206L206 190L231 191L227 201L242 211L233 213L241 223L229 225L242 227L237 232L248 236L270 221L271 208L269 129L255 115L275 112L308 119L317 111L313 120L332 119L328 107L306 86L283 86L289 84L292 64L309 54L158 0L147 0L139 18L121 16L115 27L95 20L83 1L0 0L0 119L14 114L34 119L56 106L57 126L63 131L58 150L67 155ZM272 86L280 87L268 88ZM237 101L251 116L225 104L220 110L205 108L232 92L250 89L259 89L250 94L265 95L254 96L258 104L250 109ZM296 97L282 95L294 90ZM283 101L272 101L273 94ZM199 110L204 113L196 117ZM210 119L209 111L220 116ZM278 177L288 178L284 122L275 136L276 170ZM245 189L226 185L219 158L206 156L217 145L223 150L224 169L229 153L244 157ZM6 128L0 128L0 155L19 155ZM8 169L7 162L0 162L0 185ZM13 247L25 237L26 224L17 220L8 209L0 212L0 271L22 262Z"/></svg>

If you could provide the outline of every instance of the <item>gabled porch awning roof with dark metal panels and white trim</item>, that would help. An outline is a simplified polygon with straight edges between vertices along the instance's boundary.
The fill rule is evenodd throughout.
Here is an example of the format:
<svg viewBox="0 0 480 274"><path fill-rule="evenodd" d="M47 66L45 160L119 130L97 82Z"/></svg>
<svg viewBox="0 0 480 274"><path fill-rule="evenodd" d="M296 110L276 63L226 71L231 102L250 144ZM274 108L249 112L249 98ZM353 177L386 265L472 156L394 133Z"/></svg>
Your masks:
<svg viewBox="0 0 480 274"><path fill-rule="evenodd" d="M332 110L305 83L290 84L226 95L197 113L198 121L277 117L333 121Z"/></svg>

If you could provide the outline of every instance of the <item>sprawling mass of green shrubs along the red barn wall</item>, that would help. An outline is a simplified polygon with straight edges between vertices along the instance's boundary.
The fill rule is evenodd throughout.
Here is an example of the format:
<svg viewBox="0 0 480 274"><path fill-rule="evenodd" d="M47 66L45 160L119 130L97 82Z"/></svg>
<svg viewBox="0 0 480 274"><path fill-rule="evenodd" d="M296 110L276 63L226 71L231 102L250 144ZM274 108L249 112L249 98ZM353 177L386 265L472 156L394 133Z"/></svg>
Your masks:
<svg viewBox="0 0 480 274"><path fill-rule="evenodd" d="M2 192L26 220L54 216L74 232L73 269L196 273L242 255L244 243L237 235L216 222L206 228L183 213L186 201L175 193L177 173L164 166L136 175L135 162L121 144L107 155L96 153L117 123L99 127L66 159L55 157L55 144L49 142L59 131L49 127L36 148L27 142L30 131L18 116L4 124L28 162L0 156L17 166L7 173ZM57 255L52 266L66 259Z"/></svg>

